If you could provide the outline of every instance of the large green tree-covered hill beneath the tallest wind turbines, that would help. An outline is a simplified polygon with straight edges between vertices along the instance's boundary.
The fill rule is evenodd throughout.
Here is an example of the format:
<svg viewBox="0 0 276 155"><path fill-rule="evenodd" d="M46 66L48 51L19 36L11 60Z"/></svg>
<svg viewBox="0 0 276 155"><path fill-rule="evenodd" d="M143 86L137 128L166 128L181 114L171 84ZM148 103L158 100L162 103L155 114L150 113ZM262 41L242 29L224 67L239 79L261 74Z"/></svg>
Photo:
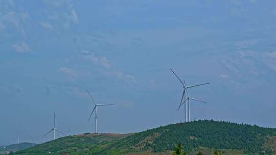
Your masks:
<svg viewBox="0 0 276 155"><path fill-rule="evenodd" d="M208 154L214 149L227 154L273 154L276 129L203 120L160 126L129 135L68 136L16 154L171 154L178 143L183 144L189 154L198 150Z"/></svg>

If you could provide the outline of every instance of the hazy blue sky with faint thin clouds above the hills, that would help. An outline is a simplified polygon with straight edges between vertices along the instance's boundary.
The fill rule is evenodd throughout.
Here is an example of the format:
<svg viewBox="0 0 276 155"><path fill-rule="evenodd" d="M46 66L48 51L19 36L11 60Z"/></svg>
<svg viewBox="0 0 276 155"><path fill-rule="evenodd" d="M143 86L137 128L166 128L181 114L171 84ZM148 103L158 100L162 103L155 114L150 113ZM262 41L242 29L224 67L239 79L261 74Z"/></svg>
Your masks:
<svg viewBox="0 0 276 155"><path fill-rule="evenodd" d="M274 1L0 1L0 144L41 136L129 133L192 119L276 127ZM70 131L70 132L69 132ZM59 135L60 136L60 135ZM36 142L51 140L52 136Z"/></svg>

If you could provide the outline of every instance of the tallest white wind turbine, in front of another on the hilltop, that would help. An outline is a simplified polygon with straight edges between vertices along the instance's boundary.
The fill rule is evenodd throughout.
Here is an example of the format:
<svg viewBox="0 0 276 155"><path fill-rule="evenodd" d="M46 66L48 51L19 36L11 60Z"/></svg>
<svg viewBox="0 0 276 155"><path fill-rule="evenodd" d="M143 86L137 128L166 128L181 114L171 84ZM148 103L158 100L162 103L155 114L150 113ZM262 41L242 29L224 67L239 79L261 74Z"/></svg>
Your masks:
<svg viewBox="0 0 276 155"><path fill-rule="evenodd" d="M197 87L197 86L202 86L202 85L206 85L206 84L210 84L210 83L204 83L204 84L198 84L198 85L192 85L192 86L187 86L185 80L183 80L183 82L180 80L180 78L177 76L177 74L171 69L171 71L173 72L173 74L177 77L177 79L180 81L180 83L183 86L183 93L182 93L182 97L181 97L181 101L180 101L180 105L177 108L177 110L180 109L180 107L184 104L185 105L185 122L187 122L187 104L186 104L186 97L189 97L188 94L188 88L193 88L193 87ZM184 98L184 102L183 101Z"/></svg>

